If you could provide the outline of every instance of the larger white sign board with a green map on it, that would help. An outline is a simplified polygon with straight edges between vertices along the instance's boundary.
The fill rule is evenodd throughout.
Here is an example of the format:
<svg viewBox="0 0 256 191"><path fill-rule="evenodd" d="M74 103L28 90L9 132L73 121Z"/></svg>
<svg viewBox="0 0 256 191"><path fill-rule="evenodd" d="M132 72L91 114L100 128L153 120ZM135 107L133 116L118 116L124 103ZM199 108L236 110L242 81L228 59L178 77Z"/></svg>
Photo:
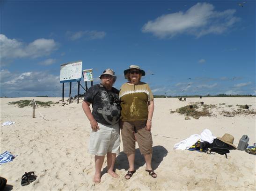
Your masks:
<svg viewBox="0 0 256 191"><path fill-rule="evenodd" d="M70 82L82 77L82 61L62 64L60 66L60 81Z"/></svg>

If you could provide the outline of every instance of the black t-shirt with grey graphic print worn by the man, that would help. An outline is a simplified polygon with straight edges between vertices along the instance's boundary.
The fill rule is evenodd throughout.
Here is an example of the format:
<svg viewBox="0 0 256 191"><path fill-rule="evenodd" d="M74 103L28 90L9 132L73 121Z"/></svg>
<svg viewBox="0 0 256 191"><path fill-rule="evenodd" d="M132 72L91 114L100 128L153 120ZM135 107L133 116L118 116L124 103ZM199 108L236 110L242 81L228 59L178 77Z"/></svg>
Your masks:
<svg viewBox="0 0 256 191"><path fill-rule="evenodd" d="M112 87L107 90L101 83L88 89L84 101L90 102L93 107L93 116L98 123L114 125L120 118L119 90Z"/></svg>

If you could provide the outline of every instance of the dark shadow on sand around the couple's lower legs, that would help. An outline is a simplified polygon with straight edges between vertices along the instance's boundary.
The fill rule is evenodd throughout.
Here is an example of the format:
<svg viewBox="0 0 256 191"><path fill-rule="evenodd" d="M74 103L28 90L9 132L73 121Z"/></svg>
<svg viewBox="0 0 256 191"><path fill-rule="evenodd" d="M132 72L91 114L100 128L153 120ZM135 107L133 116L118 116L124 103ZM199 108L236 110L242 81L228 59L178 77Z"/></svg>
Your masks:
<svg viewBox="0 0 256 191"><path fill-rule="evenodd" d="M153 155L152 155L152 169L155 170L158 168L158 166L161 164L162 160L164 157L166 157L168 154L168 151L163 147L163 146L154 146L153 147ZM135 150L135 170L138 170L139 167L144 166L145 164L145 159L143 155L140 154L139 149ZM124 152L120 152L119 155L116 158L116 163L114 169L122 170L124 169L125 171L128 171L129 169L129 163L127 156ZM102 170L102 175L107 172L107 167L105 167Z"/></svg>

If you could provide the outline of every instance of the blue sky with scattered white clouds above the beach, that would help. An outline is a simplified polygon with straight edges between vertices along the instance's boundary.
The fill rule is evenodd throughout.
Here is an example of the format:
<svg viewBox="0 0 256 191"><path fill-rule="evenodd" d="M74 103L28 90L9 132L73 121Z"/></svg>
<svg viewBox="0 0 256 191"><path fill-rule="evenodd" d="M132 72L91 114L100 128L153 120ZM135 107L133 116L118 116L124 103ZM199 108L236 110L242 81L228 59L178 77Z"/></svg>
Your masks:
<svg viewBox="0 0 256 191"><path fill-rule="evenodd" d="M155 95L255 95L255 11L254 0L1 0L0 96L61 96L60 65L78 60L94 84L112 68L117 89L139 65Z"/></svg>

